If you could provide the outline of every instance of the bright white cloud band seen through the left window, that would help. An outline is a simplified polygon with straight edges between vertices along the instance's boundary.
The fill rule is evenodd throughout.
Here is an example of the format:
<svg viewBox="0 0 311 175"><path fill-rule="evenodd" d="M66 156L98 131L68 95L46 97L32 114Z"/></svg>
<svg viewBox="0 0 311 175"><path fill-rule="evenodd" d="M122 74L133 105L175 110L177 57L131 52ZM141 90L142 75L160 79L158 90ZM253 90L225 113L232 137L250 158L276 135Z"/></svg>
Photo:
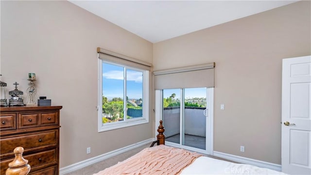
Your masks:
<svg viewBox="0 0 311 175"><path fill-rule="evenodd" d="M103 73L103 77L107 79L123 80L123 71L110 70ZM127 81L135 81L136 83L142 82L142 72L127 71Z"/></svg>

